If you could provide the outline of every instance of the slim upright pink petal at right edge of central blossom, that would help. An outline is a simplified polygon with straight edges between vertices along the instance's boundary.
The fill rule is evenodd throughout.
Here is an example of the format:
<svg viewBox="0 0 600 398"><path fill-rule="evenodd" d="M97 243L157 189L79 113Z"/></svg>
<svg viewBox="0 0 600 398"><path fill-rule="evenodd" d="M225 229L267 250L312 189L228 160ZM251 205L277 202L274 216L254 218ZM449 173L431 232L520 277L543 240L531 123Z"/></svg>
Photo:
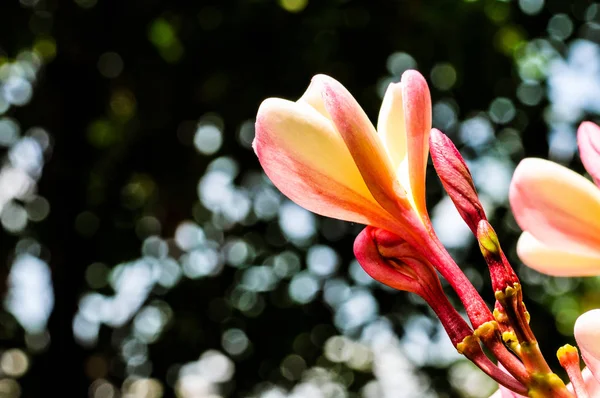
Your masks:
<svg viewBox="0 0 600 398"><path fill-rule="evenodd" d="M412 198L420 214L427 214L425 204L425 169L431 130L431 96L423 75L408 70L402 75L402 97L406 118L408 176Z"/></svg>

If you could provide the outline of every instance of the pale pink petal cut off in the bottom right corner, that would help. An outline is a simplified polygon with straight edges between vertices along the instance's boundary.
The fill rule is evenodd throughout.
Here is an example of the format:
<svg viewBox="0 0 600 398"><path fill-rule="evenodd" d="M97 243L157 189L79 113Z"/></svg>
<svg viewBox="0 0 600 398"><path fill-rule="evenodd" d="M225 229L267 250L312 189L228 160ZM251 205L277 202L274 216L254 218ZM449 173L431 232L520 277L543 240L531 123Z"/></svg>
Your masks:
<svg viewBox="0 0 600 398"><path fill-rule="evenodd" d="M575 340L585 364L600 383L600 309L588 311L577 318Z"/></svg>

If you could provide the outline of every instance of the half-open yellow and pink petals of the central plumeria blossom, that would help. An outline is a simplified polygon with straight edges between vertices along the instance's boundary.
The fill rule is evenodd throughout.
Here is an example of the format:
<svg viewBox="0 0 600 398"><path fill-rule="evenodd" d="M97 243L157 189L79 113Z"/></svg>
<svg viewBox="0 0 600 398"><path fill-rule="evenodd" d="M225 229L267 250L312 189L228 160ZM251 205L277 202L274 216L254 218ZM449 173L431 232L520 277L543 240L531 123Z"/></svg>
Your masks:
<svg viewBox="0 0 600 398"><path fill-rule="evenodd" d="M262 103L254 150L271 181L300 206L413 234L427 214L430 129L429 89L418 72L390 85L377 129L344 86L317 75L298 101Z"/></svg>

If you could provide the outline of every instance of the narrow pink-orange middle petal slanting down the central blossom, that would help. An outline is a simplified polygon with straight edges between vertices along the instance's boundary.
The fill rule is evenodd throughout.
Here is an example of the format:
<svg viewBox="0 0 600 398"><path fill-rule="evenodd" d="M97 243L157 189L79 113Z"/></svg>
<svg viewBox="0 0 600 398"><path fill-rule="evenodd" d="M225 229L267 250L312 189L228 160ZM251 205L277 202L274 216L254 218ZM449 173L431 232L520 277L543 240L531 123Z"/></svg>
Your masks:
<svg viewBox="0 0 600 398"><path fill-rule="evenodd" d="M412 210L404 189L369 118L346 88L329 76L317 75L325 108L346 143L375 200L399 219Z"/></svg>

